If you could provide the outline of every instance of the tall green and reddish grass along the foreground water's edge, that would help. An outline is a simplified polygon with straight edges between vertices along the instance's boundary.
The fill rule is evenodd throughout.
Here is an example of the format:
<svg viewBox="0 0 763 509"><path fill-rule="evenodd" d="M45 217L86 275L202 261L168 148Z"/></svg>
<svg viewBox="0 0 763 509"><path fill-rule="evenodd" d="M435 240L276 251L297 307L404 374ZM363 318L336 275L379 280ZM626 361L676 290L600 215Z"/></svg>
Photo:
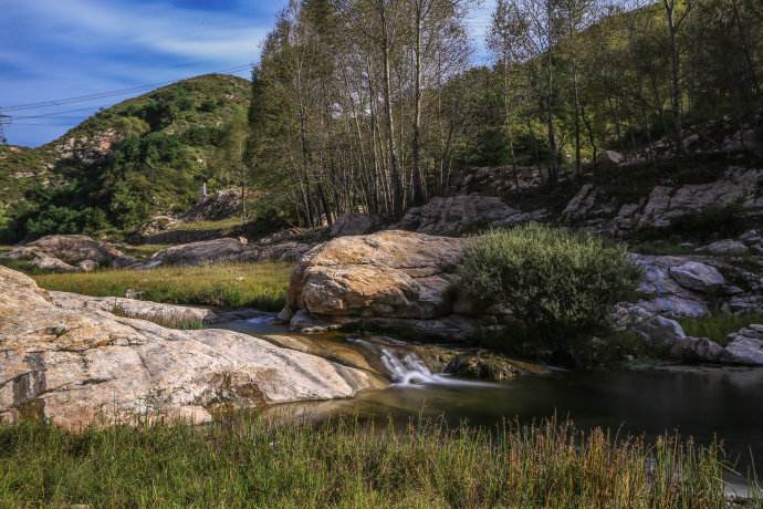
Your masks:
<svg viewBox="0 0 763 509"><path fill-rule="evenodd" d="M723 472L718 446L554 423L494 434L253 417L82 434L0 427L7 508L720 509L731 507Z"/></svg>

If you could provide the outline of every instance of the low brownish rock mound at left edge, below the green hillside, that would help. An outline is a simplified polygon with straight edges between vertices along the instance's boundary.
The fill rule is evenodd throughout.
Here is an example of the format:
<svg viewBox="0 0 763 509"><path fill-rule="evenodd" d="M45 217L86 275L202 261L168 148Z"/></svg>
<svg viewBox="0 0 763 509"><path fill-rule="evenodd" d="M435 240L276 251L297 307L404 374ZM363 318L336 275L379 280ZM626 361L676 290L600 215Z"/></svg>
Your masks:
<svg viewBox="0 0 763 509"><path fill-rule="evenodd" d="M135 263L114 246L84 235L51 235L13 249L6 258L27 260L41 270L87 271L97 267L123 268Z"/></svg>

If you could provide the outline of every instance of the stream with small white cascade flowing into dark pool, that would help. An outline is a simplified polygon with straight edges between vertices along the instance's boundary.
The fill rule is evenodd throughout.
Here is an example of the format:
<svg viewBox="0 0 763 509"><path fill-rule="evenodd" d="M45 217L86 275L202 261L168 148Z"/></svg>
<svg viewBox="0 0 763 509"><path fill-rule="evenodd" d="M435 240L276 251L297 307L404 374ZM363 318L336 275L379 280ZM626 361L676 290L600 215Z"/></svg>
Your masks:
<svg viewBox="0 0 763 509"><path fill-rule="evenodd" d="M699 443L722 440L728 459L742 476L763 471L763 370L743 367L662 367L571 372L520 376L504 383L459 380L432 373L407 343L390 339L302 336L268 318L232 322L227 329L259 337L291 337L384 373L388 388L367 391L352 399L278 405L266 415L288 419L360 419L407 424L419 417L443 418L457 426L492 428L504 420L532 423L556 416L578 428L603 427L647 439L678 432ZM283 340L275 341L283 344ZM334 349L334 350L332 350ZM338 353L337 353L338 352ZM347 354L354 353L356 357ZM355 361L353 361L355 359ZM754 459L753 459L754 458ZM760 474L757 475L760 478ZM733 479L732 479L733 481Z"/></svg>

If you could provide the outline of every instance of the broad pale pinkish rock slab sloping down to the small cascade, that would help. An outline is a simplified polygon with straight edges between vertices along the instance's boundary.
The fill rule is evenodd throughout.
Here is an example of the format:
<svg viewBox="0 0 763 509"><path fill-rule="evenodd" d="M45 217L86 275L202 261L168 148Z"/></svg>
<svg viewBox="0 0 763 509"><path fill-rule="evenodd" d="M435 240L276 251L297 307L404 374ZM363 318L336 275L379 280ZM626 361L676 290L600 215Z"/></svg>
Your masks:
<svg viewBox="0 0 763 509"><path fill-rule="evenodd" d="M174 331L67 310L0 267L0 420L36 416L81 429L136 415L205 422L221 405L348 397L367 372L231 331Z"/></svg>

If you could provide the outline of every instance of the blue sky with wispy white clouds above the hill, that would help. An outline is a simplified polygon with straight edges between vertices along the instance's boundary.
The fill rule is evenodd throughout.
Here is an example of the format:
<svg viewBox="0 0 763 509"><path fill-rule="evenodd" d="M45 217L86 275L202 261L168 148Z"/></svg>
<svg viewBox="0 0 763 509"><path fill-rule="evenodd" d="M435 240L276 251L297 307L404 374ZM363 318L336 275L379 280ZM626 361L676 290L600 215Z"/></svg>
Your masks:
<svg viewBox="0 0 763 509"><path fill-rule="evenodd" d="M286 0L0 0L0 108L9 143L50 142L97 111L145 92L46 108L43 101L169 82L255 62ZM474 1L474 60L492 0ZM76 111L75 111L76 110ZM55 116L29 118L39 115ZM28 118L22 118L22 117Z"/></svg>

